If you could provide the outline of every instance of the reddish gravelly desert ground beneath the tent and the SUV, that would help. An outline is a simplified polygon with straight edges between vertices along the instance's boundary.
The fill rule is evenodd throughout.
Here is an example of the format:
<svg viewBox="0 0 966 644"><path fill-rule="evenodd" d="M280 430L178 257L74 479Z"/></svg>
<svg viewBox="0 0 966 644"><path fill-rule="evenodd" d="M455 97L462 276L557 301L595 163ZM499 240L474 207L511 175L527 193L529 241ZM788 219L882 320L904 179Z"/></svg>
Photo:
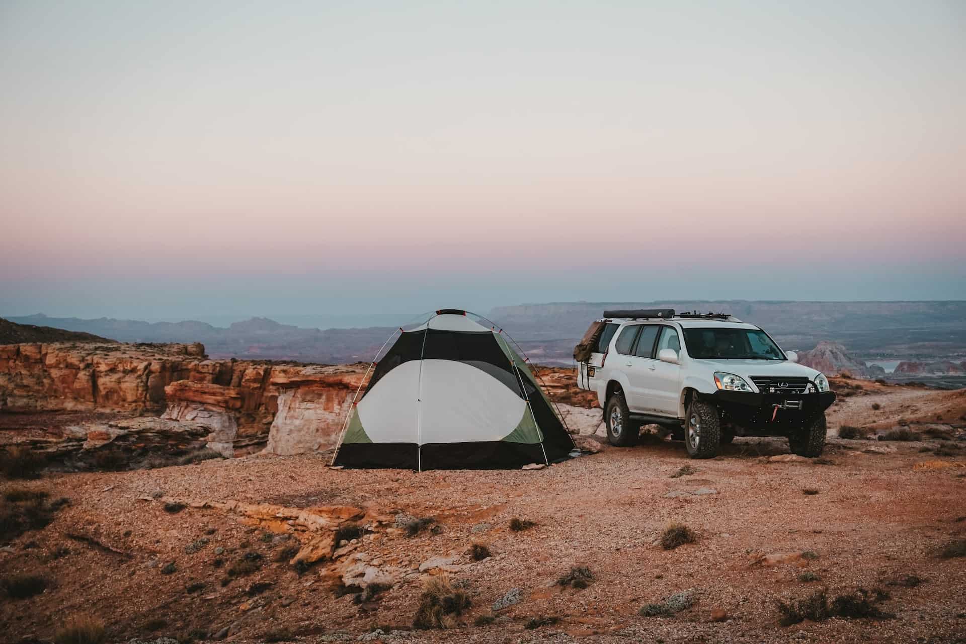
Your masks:
<svg viewBox="0 0 966 644"><path fill-rule="evenodd" d="M656 434L601 444L599 409L559 378L600 452L543 469L339 470L316 453L4 481L0 640L49 641L83 613L109 642L966 641L966 558L944 556L966 539L966 392L838 380L823 459L738 438L697 462ZM922 440L874 439L896 428ZM694 541L665 549L671 523ZM558 583L575 567L589 578ZM14 599L29 575L43 592ZM412 630L433 580L448 586L428 614L450 628ZM781 626L779 602L822 590L866 617Z"/></svg>

